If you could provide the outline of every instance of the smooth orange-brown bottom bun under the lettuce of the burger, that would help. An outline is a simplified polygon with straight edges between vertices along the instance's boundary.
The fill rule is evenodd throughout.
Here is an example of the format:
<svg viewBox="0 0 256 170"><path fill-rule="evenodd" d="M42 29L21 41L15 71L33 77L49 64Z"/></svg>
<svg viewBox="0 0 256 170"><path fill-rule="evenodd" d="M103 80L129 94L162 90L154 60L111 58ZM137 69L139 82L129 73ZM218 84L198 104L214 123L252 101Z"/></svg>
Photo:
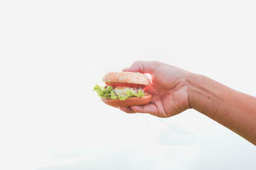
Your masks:
<svg viewBox="0 0 256 170"><path fill-rule="evenodd" d="M152 95L146 95L144 97L128 97L125 101L121 101L120 99L105 99L101 98L101 100L115 108L124 107L124 106L138 106L143 104L148 104L152 101Z"/></svg>

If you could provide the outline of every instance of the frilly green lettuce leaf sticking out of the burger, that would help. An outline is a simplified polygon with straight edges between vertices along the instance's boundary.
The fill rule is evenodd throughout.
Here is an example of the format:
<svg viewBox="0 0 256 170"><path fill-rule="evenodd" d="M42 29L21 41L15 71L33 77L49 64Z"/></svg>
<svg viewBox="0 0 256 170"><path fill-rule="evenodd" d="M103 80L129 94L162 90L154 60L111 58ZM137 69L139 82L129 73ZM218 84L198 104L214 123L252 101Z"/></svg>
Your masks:
<svg viewBox="0 0 256 170"><path fill-rule="evenodd" d="M145 94L142 90L138 90L138 92L132 92L130 90L125 91L125 95L115 94L113 87L108 86L107 89L104 87L99 87L99 85L95 85L94 89L99 97L104 97L106 99L120 99L121 101L125 101L128 97L144 97Z"/></svg>

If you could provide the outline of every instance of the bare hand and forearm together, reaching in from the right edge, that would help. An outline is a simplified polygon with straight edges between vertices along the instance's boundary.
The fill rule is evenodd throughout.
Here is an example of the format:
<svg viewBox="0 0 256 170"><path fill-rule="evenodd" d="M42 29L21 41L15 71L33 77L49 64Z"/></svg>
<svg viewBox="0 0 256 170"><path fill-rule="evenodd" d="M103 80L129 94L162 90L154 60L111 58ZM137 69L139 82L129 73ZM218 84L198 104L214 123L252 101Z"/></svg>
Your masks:
<svg viewBox="0 0 256 170"><path fill-rule="evenodd" d="M256 97L157 61L136 61L123 71L151 74L145 91L152 94L152 102L120 110L167 118L195 109L256 145Z"/></svg>

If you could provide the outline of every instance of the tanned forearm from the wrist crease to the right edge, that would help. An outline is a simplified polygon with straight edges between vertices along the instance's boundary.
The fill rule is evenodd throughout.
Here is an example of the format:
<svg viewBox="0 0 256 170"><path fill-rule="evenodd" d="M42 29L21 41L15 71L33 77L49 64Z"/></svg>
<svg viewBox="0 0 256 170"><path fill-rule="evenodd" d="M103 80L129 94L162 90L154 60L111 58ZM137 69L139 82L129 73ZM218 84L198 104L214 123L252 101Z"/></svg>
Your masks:
<svg viewBox="0 0 256 170"><path fill-rule="evenodd" d="M188 78L189 104L256 145L256 98L198 74Z"/></svg>

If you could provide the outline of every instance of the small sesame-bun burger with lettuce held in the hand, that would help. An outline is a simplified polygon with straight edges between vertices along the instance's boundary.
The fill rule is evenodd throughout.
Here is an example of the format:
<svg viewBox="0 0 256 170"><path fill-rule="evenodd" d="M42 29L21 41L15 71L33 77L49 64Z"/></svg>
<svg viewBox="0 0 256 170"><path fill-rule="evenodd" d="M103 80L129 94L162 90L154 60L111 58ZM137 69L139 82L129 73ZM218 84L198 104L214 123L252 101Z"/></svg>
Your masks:
<svg viewBox="0 0 256 170"><path fill-rule="evenodd" d="M134 72L108 73L103 78L105 87L95 85L101 100L113 107L143 105L152 101L152 95L144 91L149 85L147 75Z"/></svg>

